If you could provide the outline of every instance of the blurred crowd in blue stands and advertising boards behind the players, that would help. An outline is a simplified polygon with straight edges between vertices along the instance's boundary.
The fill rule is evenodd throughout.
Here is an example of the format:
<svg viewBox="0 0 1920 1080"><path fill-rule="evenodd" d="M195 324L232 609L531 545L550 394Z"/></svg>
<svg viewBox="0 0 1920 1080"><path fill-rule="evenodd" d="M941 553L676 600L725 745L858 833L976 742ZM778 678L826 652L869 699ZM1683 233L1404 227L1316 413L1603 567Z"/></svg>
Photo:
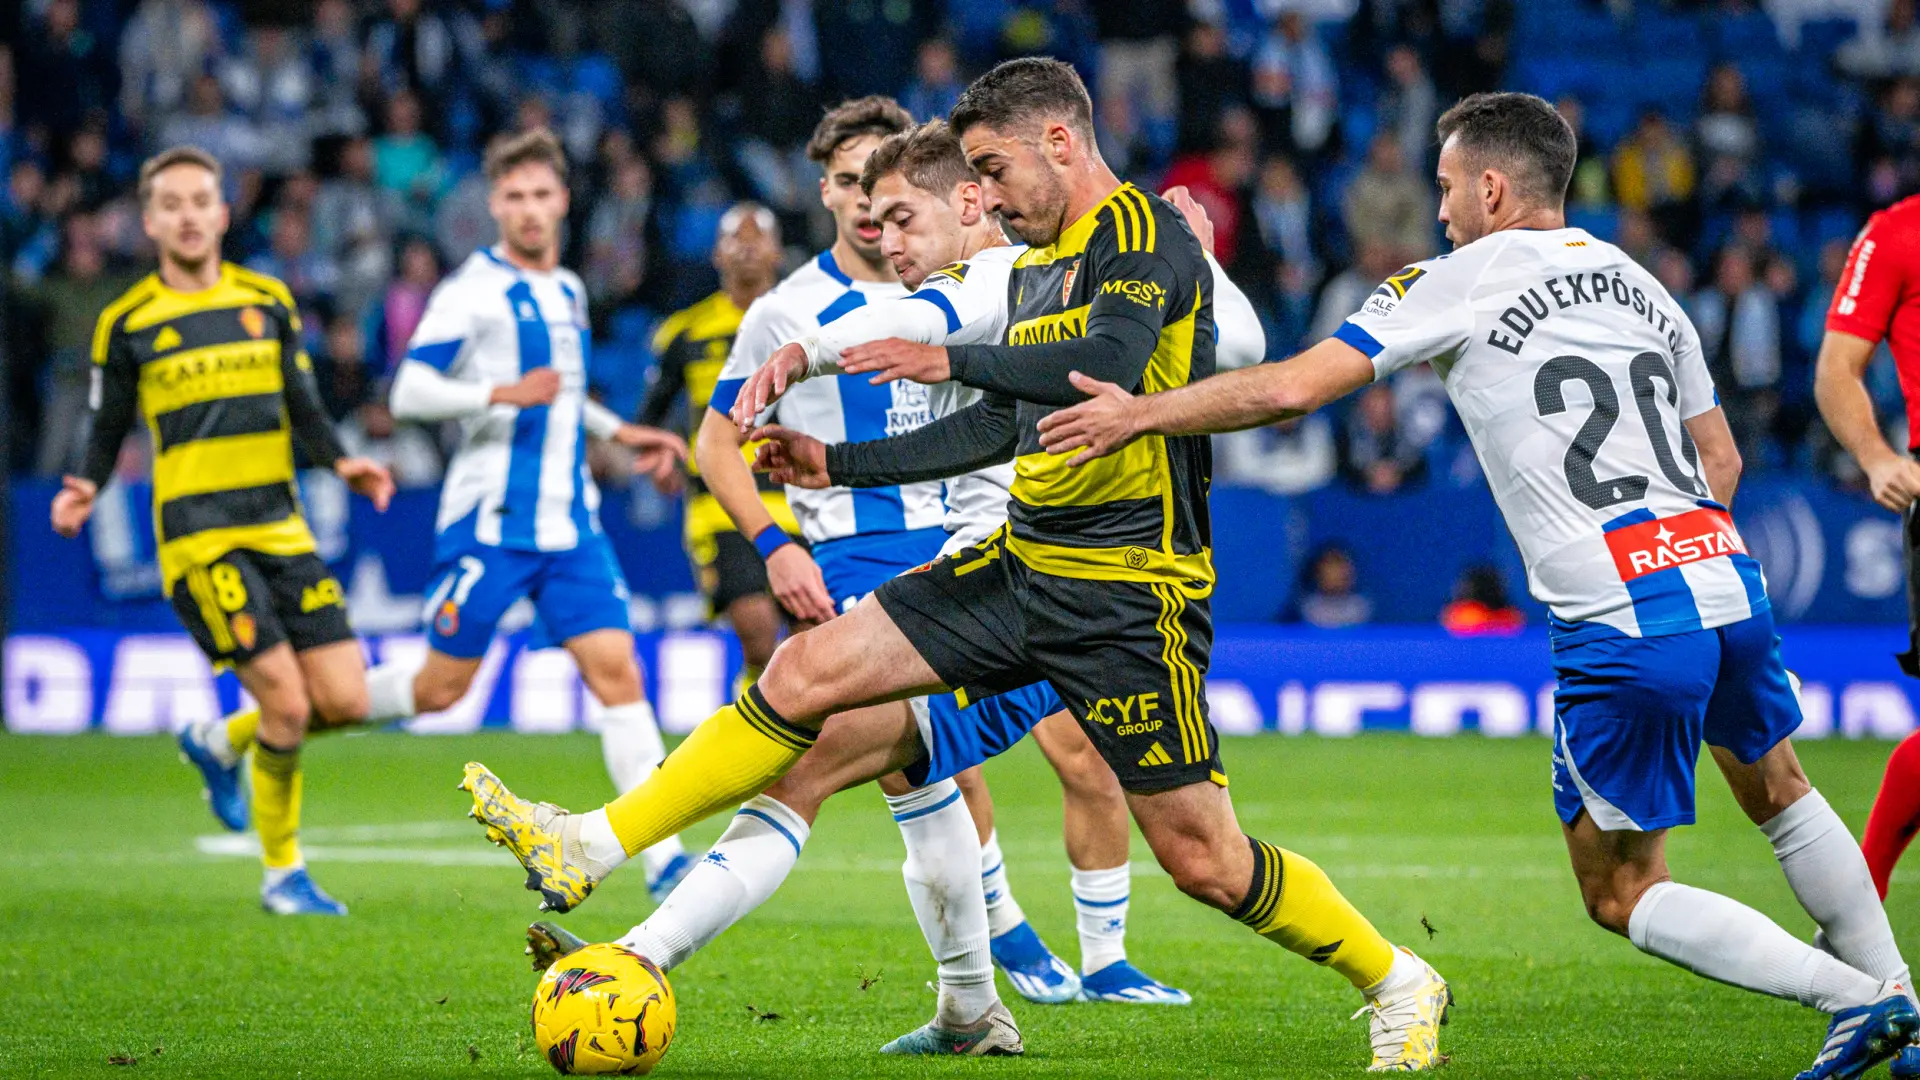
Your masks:
<svg viewBox="0 0 1920 1080"><path fill-rule="evenodd" d="M305 480L371 648L413 636L447 432L382 400L432 284L492 240L478 152L555 127L574 161L566 261L595 309L595 392L632 413L649 331L714 286L720 213L756 198L797 265L831 240L799 146L822 106L897 94L943 113L1006 56L1071 60L1139 183L1188 184L1269 357L1325 334L1434 254L1432 119L1465 92L1553 98L1582 135L1571 219L1619 242L1701 329L1747 459L1736 517L1807 676L1809 730L1891 736L1916 700L1897 521L1812 405L1812 354L1864 215L1920 190L1908 0L27 0L0 12L6 279L8 726L152 730L232 703L157 598L146 452L84 542L46 502L84 430L98 309L146 273L131 179L171 142L228 167L228 258L288 281L344 438L407 484L376 517ZM1891 361L1870 386L1889 438ZM1899 442L1897 442L1899 444ZM597 461L670 726L737 661L703 630L678 507ZM1538 726L1538 605L1427 371L1327 415L1221 438L1223 726L1440 734ZM1500 594L1507 594L1503 603ZM1461 636L1457 600L1501 634ZM1452 625L1453 630L1442 625ZM1515 628L1521 626L1521 628ZM591 723L564 659L505 644L426 730Z"/></svg>

